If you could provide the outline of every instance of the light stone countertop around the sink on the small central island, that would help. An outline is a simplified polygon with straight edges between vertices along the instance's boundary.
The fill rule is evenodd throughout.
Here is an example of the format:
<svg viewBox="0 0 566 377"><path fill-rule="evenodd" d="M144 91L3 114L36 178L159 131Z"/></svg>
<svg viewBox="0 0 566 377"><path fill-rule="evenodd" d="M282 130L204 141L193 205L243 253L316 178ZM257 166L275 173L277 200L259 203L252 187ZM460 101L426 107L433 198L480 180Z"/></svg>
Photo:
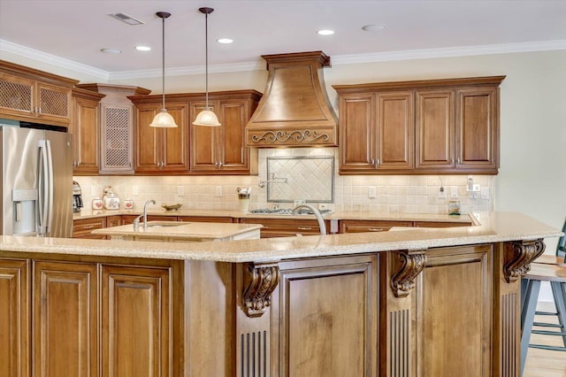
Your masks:
<svg viewBox="0 0 566 377"><path fill-rule="evenodd" d="M134 237L164 237L180 240L213 241L226 239L234 235L242 235L262 226L258 224L216 223L216 222L178 222L148 221L148 228L143 223L137 229L132 224L119 227L104 227L92 231L93 235L123 235Z"/></svg>

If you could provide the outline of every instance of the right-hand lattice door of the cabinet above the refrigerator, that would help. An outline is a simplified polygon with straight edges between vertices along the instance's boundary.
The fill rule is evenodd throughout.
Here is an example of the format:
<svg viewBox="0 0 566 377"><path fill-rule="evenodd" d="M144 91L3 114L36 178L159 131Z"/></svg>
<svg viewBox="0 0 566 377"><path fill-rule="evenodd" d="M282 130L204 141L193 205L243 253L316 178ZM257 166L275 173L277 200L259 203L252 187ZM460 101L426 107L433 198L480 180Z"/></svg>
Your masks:
<svg viewBox="0 0 566 377"><path fill-rule="evenodd" d="M36 98L37 118L69 121L70 88L61 88L38 82Z"/></svg>

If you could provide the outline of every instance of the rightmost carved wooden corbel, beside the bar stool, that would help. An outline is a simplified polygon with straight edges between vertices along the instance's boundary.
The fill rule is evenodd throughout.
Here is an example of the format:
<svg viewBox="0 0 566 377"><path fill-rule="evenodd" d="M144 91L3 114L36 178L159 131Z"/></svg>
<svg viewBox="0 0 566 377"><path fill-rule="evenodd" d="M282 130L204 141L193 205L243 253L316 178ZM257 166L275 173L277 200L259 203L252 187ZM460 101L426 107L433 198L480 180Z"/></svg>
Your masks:
<svg viewBox="0 0 566 377"><path fill-rule="evenodd" d="M545 242L542 238L534 241L506 242L506 254L510 257L509 262L503 265L503 274L507 282L521 279L531 270L531 262L539 258L545 252Z"/></svg>

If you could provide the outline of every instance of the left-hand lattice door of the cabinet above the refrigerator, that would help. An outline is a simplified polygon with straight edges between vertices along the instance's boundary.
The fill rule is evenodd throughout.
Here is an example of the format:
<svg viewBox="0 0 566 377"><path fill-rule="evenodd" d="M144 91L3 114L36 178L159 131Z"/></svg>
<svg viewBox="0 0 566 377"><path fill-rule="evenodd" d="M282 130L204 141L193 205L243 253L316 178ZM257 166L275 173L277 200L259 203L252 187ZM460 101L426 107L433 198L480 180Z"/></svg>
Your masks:
<svg viewBox="0 0 566 377"><path fill-rule="evenodd" d="M0 111L20 117L35 116L35 81L0 73Z"/></svg>

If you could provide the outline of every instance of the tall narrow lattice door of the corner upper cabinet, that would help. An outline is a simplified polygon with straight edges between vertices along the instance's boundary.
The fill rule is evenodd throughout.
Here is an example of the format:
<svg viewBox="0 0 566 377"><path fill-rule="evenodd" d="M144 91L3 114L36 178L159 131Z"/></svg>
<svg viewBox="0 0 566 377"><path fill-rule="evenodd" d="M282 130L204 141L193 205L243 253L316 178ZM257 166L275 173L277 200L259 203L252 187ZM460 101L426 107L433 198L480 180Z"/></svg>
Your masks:
<svg viewBox="0 0 566 377"><path fill-rule="evenodd" d="M103 105L100 173L134 173L134 109L132 105Z"/></svg>

